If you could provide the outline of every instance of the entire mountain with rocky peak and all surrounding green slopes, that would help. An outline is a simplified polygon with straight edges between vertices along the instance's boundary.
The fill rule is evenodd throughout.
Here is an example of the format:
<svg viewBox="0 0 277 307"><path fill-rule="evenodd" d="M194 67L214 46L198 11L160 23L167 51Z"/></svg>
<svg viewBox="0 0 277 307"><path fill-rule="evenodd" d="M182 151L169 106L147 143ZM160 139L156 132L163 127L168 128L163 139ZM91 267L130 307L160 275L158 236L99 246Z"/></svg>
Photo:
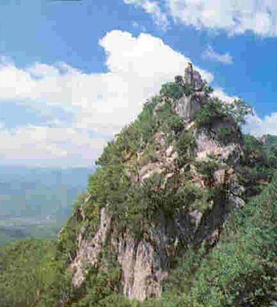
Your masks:
<svg viewBox="0 0 277 307"><path fill-rule="evenodd" d="M106 145L57 241L0 248L1 306L277 303L277 137L212 92L189 65Z"/></svg>

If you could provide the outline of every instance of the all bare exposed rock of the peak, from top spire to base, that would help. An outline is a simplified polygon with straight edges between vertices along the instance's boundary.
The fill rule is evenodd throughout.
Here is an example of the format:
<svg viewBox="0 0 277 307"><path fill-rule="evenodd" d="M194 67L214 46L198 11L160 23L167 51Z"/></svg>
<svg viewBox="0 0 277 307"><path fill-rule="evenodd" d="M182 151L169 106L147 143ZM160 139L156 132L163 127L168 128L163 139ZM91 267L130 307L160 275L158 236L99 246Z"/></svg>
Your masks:
<svg viewBox="0 0 277 307"><path fill-rule="evenodd" d="M204 104L206 96L201 90L202 78L191 65L185 70L184 83L198 92L183 95L175 102L174 111L187 121L187 129L192 129L196 143L193 152L195 160L209 163L209 156L214 155L222 165L214 173L211 184L226 186L228 192L218 195L205 212L195 208L190 210L184 206L176 210L173 218L168 221L164 212L159 210L156 222L149 231L144 232L139 241L129 229L118 234L116 221L107 214L106 207L102 207L97 231L87 237L84 228L78 234L76 256L70 264L74 272L72 282L75 287L80 287L85 279L83 265L98 266L99 254L106 246L109 253L116 255L121 266L121 289L118 290L121 294L139 301L144 301L147 297L159 297L162 291L161 280L170 274L169 259L177 254L177 250L183 248L185 253L188 246L199 246L205 240L211 243L216 241L230 211L244 205L240 198L243 188L238 184L233 171L233 166L239 162L242 153L239 131L234 123L227 119L218 119L209 130L195 128L192 122L193 114ZM222 140L218 134L224 127L233 129L233 134L230 134L228 140ZM127 159L126 172L131 181L140 184L155 173L164 174L166 179L171 178L176 172L182 173L183 169L178 169L176 164L178 153L173 145L165 145L164 138L162 132L154 136L156 160L145 162L143 151L137 152L135 158ZM132 171L133 165L137 167L136 174ZM190 165L190 176L190 183L201 188L209 188L194 165ZM82 212L80 215L85 219Z"/></svg>

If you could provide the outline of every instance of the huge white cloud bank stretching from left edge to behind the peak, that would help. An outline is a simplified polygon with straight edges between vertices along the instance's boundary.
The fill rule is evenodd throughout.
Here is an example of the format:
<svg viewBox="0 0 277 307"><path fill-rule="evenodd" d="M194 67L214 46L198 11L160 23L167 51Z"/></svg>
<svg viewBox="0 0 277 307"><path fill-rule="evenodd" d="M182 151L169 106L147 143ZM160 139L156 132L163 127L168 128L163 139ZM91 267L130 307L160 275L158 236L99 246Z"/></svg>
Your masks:
<svg viewBox="0 0 277 307"><path fill-rule="evenodd" d="M190 61L145 33L133 37L113 30L99 44L106 52L107 73L87 74L65 63L18 68L8 59L1 61L0 104L25 104L47 116L40 126L0 126L1 163L92 161L107 140L135 119L145 100L183 74ZM211 73L199 71L211 82ZM57 109L73 118L57 118Z"/></svg>

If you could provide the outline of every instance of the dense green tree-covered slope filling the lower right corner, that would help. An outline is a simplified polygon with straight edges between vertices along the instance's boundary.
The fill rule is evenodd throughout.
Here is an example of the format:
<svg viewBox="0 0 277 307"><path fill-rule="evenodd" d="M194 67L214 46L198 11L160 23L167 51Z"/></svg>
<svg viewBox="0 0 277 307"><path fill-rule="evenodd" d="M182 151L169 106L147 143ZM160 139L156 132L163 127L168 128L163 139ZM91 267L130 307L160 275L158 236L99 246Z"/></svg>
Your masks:
<svg viewBox="0 0 277 307"><path fill-rule="evenodd" d="M232 213L214 251L202 259L192 253L192 258L180 260L162 306L273 306L277 301L276 216L275 175L260 195ZM195 266L199 267L193 277ZM176 295L174 304L171 298Z"/></svg>

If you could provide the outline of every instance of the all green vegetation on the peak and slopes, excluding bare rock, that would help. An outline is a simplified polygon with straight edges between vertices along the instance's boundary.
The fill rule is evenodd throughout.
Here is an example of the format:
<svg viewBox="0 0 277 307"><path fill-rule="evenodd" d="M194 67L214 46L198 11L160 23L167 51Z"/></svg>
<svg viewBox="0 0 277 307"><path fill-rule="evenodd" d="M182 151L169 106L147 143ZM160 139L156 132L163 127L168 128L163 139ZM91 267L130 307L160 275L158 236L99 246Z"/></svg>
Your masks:
<svg viewBox="0 0 277 307"><path fill-rule="evenodd" d="M172 259L171 274L164 279L161 298L149 298L142 303L118 294L121 269L105 248L99 263L106 270L84 267L87 275L82 287L75 289L70 285L68 264L76 256L77 236L80 231L84 238L95 234L102 207L107 206L116 220L118 236L128 227L140 240L156 222L158 210L168 220L181 207L204 214L218 195L225 193L226 186L214 184L215 171L223 166L213 157L209 163L196 161L194 126L187 127L183 117L174 112L174 102L180 97L197 95L194 88L178 80L163 85L159 95L144 104L137 119L106 145L96 162L96 171L90 176L87 193L75 202L59 241L49 242L48 246L29 241L27 255L23 253L27 244L24 242L0 250L1 306L19 306L18 303L21 306L242 306L244 302L251 306L271 306L277 300L274 287L277 284L274 244L277 147L273 136L266 141L242 136L244 156L235 171L245 186L243 198L247 204L230 214L221 231L221 240L214 248L207 248L207 244L190 246L190 241L182 247L185 253L177 253ZM251 112L242 100L228 105L211 97L212 89L205 83L199 90L204 92L206 103L193 118L198 128L209 128L217 118L230 119L235 126L243 124ZM221 129L219 133L226 138L231 131ZM161 158L156 140L161 135L164 142L161 147L171 145L177 153L170 170L172 176L167 177L169 171L167 174L165 171L142 180L142 167ZM202 176L205 188L191 183L191 166ZM41 253L44 256L39 258ZM13 275L11 260L26 265L20 265ZM30 279L25 282L28 267ZM48 274L42 275L42 271ZM18 290L19 281L27 285L27 296Z"/></svg>

